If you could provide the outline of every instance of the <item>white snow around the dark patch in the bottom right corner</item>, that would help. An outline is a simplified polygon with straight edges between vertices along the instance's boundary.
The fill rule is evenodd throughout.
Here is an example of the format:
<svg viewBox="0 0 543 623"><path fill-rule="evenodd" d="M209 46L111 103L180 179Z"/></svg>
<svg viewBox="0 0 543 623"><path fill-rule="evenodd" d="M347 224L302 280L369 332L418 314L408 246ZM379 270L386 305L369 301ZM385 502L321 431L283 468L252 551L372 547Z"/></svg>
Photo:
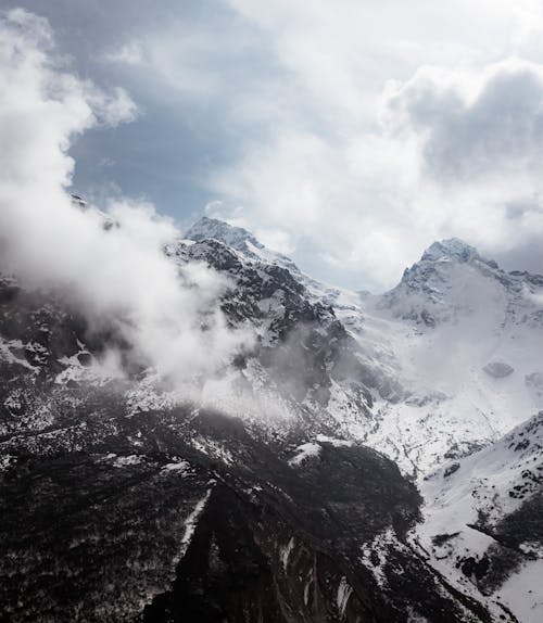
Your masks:
<svg viewBox="0 0 543 623"><path fill-rule="evenodd" d="M483 599L476 585L456 568L456 560L458 557L480 559L495 543L491 536L468 525L477 525L480 513L485 516L487 525L495 524L540 491L538 479L539 470L543 469L543 414L456 465L455 471L451 472L453 462L445 463L419 482L425 498L424 521L416 526L411 539L415 547L420 547L421 555L453 584ZM519 485L522 486L522 495L512 496L512 492L516 491L514 487ZM442 537L440 543L433 541L435 536ZM521 549L536 556L542 554L539 546L529 542L521 544ZM542 620L542 564L541 558L528 562L492 595L493 600L506 603L521 623ZM535 585L538 573L539 585ZM493 602L489 603L492 606Z"/></svg>

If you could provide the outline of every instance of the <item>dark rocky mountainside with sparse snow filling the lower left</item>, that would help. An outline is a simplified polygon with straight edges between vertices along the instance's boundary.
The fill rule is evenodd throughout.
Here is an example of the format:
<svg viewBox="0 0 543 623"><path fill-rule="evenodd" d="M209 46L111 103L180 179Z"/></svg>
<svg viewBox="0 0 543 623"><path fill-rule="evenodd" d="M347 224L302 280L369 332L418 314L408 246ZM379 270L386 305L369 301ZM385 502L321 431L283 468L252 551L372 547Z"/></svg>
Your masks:
<svg viewBox="0 0 543 623"><path fill-rule="evenodd" d="M114 334L11 280L1 301L0 620L492 620L407 544L420 497L390 460L325 438L301 459L303 431L188 403L135 412L137 367L63 377Z"/></svg>

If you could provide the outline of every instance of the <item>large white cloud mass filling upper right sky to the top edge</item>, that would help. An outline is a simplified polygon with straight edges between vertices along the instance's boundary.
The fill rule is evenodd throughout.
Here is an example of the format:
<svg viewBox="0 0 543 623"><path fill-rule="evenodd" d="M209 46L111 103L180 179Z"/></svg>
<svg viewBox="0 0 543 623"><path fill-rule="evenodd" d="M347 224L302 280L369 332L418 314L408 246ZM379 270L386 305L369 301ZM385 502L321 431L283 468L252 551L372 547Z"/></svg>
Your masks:
<svg viewBox="0 0 543 623"><path fill-rule="evenodd" d="M519 35L530 2L230 4L285 72L273 82L279 112L258 93L236 107L237 123L257 111L267 132L211 178L226 204L244 206L245 226L298 241L310 270L320 256L343 282L374 289L435 239L500 259L543 233L539 207L510 211L542 194L543 65L510 56L535 53Z"/></svg>

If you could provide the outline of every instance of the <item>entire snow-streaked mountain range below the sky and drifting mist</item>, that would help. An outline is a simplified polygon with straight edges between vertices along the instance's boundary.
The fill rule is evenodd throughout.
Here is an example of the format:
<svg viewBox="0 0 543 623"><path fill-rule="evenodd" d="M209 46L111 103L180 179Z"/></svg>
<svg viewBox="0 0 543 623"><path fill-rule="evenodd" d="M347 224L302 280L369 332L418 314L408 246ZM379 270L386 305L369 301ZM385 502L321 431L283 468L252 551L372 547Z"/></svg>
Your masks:
<svg viewBox="0 0 543 623"><path fill-rule="evenodd" d="M164 252L256 335L203 387L0 280L2 616L530 621L543 278L453 240L361 297L210 218Z"/></svg>

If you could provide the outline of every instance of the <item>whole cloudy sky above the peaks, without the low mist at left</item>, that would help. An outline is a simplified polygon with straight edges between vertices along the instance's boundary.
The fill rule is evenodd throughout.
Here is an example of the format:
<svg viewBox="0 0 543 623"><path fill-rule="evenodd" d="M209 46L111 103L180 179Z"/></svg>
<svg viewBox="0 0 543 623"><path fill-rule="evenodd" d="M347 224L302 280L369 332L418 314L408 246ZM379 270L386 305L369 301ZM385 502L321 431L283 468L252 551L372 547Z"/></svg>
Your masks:
<svg viewBox="0 0 543 623"><path fill-rule="evenodd" d="M0 7L46 18L51 66L109 93L62 147L100 206L224 218L359 290L451 237L543 272L541 2Z"/></svg>

